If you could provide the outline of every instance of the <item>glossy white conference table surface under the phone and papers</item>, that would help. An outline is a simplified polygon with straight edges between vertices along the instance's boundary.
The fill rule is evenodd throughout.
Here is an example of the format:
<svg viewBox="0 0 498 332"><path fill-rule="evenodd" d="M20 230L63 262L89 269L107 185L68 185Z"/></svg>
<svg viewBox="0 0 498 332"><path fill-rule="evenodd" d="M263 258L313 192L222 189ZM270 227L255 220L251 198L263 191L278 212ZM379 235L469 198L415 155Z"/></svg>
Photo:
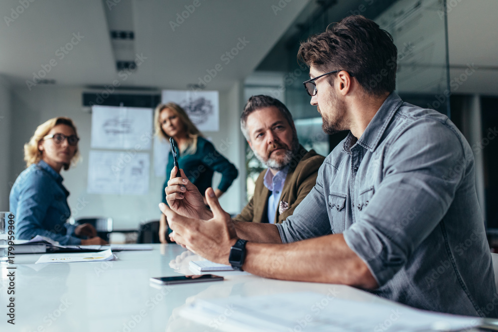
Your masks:
<svg viewBox="0 0 498 332"><path fill-rule="evenodd" d="M391 303L343 285L265 279L247 272L218 272L225 281L153 287L150 277L193 274L188 261L199 260L176 244L153 244L153 250L121 251L107 262L34 264L41 254L18 254L15 264L15 326L6 323L8 279L1 265L2 332L155 332L216 331L178 315L196 298L249 297L312 291L338 298ZM401 307L401 305L400 305ZM278 310L278 308L275 308ZM308 308L309 309L309 308ZM303 308L305 311L306 308Z"/></svg>

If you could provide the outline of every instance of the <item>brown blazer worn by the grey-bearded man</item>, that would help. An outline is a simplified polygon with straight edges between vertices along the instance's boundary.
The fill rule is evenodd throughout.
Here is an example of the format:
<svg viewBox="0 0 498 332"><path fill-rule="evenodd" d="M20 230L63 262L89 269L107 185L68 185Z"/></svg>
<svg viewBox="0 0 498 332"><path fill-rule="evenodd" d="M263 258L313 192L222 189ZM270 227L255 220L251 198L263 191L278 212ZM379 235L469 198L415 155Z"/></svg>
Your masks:
<svg viewBox="0 0 498 332"><path fill-rule="evenodd" d="M308 152L302 145L299 145L299 152L290 162L274 220L281 223L292 215L294 209L315 186L318 169L324 160L325 157L314 150ZM267 207L270 191L263 184L265 173L266 170L259 174L254 196L242 212L234 218L235 221L268 222Z"/></svg>

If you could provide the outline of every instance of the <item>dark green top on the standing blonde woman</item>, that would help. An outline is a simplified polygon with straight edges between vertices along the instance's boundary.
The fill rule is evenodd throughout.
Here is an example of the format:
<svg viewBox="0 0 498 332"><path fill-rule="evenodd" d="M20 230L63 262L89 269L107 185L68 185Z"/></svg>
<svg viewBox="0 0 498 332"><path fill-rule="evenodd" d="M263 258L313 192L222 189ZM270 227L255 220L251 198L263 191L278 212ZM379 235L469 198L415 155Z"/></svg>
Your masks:
<svg viewBox="0 0 498 332"><path fill-rule="evenodd" d="M232 182L239 175L237 168L218 152L213 144L203 137L197 138L197 150L194 154L179 154L178 165L185 172L190 182L197 186L199 192L204 196L206 189L212 186L214 172L222 175L218 189L226 192ZM168 165L166 166L166 181L162 190L162 202L166 202L164 189L173 169L173 155L169 152Z"/></svg>

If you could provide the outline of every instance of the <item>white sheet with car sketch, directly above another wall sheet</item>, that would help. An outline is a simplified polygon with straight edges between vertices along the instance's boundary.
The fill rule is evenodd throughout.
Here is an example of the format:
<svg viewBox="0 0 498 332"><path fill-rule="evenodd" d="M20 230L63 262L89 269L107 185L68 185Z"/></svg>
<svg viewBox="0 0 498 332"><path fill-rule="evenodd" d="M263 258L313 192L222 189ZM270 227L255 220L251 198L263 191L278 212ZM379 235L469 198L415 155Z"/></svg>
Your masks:
<svg viewBox="0 0 498 332"><path fill-rule="evenodd" d="M152 137L152 109L92 107L92 148L149 150Z"/></svg>

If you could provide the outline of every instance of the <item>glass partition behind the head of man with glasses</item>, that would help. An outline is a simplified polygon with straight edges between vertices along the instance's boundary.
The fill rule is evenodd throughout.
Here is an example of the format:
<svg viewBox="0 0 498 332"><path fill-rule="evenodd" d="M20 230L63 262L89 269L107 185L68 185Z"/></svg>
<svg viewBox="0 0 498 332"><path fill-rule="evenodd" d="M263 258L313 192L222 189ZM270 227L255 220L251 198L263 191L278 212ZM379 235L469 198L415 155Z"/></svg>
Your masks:
<svg viewBox="0 0 498 332"><path fill-rule="evenodd" d="M315 149L326 156L347 133L326 135L322 131L321 116L316 107L310 105L310 97L302 85L309 79L308 68L299 66L297 50L300 41L324 31L331 22L351 14L362 14L373 19L393 37L398 49L395 59L396 93L405 102L450 115L446 0L340 0L321 3L322 7L316 8L312 14L298 17L291 28L294 32L285 34L285 40L279 41L278 47L271 51L273 54L267 56L271 61L265 63L263 60L255 73L256 77L264 77L264 73L268 73L264 69L274 66L276 57L284 57L281 63L287 66L279 68L279 71L272 69L272 75L279 77L279 80L263 79L256 83L253 77L249 78L246 98L257 91L281 100L294 117L300 143L306 149ZM379 68L379 74L372 77L373 83L382 79L382 73ZM249 147L247 152L249 198L253 182L264 168L253 157Z"/></svg>

